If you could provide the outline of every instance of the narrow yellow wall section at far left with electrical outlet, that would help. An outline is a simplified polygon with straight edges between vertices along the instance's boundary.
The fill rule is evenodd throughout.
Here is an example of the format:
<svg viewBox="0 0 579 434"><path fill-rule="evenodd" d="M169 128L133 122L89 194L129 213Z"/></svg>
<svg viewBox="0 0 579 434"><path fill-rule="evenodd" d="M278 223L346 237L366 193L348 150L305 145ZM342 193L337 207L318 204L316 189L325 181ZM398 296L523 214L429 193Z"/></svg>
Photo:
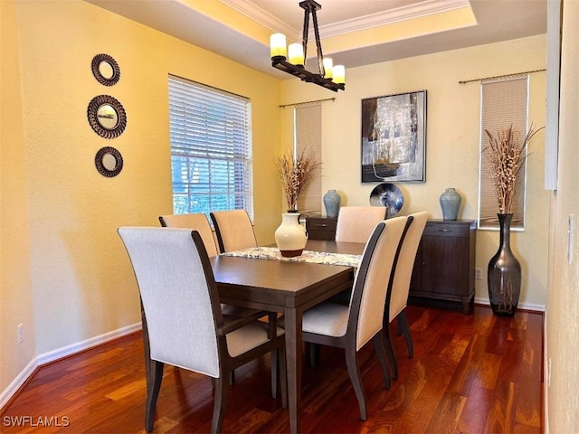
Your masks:
<svg viewBox="0 0 579 434"><path fill-rule="evenodd" d="M3 391L36 354L20 67L14 5L8 2L0 2L0 43L0 391ZM24 326L22 344L16 340L19 324Z"/></svg>

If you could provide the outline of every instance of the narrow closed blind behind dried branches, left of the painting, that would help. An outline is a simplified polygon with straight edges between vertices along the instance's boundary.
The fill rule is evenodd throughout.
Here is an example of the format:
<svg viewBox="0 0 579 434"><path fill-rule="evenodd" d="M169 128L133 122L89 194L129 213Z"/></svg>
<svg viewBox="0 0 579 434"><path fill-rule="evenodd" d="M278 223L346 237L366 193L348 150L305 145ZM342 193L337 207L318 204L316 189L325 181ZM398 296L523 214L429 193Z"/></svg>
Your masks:
<svg viewBox="0 0 579 434"><path fill-rule="evenodd" d="M294 109L295 149L298 155L304 150L312 152L316 161L322 161L322 106L320 103L298 106ZM314 179L299 194L300 212L320 212L322 203L322 169L316 169Z"/></svg>

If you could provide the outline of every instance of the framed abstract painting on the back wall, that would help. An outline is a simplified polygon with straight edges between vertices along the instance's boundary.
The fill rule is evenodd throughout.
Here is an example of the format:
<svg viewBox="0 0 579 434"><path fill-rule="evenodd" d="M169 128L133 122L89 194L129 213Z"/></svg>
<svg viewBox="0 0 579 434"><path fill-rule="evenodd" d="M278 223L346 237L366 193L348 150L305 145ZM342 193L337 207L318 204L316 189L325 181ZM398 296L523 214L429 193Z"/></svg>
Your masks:
<svg viewBox="0 0 579 434"><path fill-rule="evenodd" d="M362 183L426 181L426 90L362 99Z"/></svg>

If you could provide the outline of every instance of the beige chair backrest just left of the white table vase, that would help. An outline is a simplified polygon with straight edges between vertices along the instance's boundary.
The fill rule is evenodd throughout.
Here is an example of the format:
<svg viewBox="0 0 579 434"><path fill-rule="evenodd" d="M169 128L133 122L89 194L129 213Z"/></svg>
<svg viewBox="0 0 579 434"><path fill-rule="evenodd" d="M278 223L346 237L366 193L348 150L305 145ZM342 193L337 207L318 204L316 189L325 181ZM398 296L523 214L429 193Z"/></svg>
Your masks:
<svg viewBox="0 0 579 434"><path fill-rule="evenodd" d="M257 247L252 220L247 211L214 211L210 215L222 253Z"/></svg>

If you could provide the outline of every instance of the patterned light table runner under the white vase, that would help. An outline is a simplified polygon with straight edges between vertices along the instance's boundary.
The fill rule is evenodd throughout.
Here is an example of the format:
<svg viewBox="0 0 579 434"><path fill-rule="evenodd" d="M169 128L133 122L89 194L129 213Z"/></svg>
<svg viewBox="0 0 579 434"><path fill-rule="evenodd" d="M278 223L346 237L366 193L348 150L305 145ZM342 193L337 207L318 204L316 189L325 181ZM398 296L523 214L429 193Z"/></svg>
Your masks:
<svg viewBox="0 0 579 434"><path fill-rule="evenodd" d="M300 256L284 258L277 247L252 247L249 249L227 251L224 256L235 256L241 258L254 259L277 259L289 262L311 262L315 264L343 265L346 267L358 268L362 255L351 255L347 253L330 253L328 251L304 250Z"/></svg>

